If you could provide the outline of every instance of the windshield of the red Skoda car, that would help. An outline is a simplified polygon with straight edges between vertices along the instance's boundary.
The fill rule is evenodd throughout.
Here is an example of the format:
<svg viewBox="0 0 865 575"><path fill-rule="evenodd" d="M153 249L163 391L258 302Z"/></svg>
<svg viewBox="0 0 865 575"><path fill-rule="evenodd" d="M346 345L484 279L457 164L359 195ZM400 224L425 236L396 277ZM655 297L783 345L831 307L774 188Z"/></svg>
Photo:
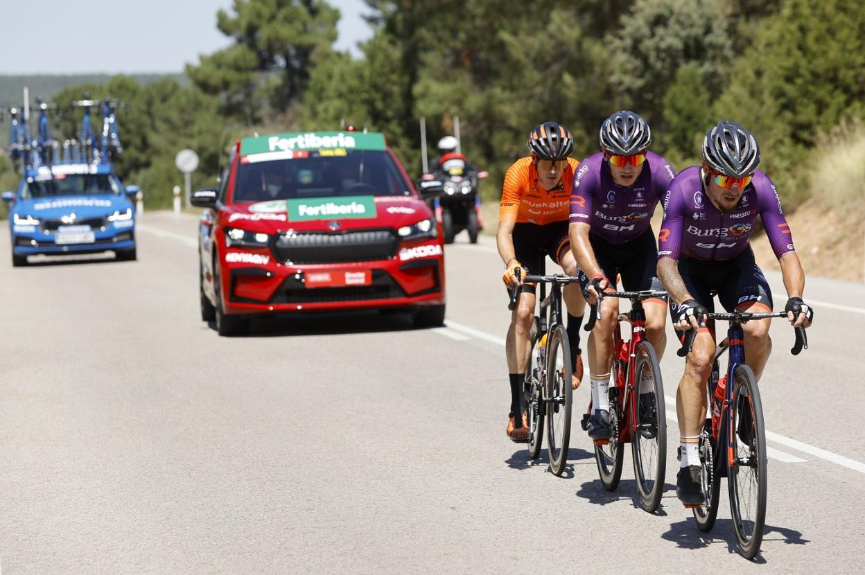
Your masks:
<svg viewBox="0 0 865 575"><path fill-rule="evenodd" d="M266 162L241 157L234 201L411 195L409 183L387 151L316 150L303 156Z"/></svg>

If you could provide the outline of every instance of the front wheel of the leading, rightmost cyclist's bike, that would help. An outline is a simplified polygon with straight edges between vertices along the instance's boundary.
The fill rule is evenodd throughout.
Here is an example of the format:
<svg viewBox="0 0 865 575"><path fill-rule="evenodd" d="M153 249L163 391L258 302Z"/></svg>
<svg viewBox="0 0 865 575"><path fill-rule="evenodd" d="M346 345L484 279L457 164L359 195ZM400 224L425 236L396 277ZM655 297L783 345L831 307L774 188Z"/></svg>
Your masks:
<svg viewBox="0 0 865 575"><path fill-rule="evenodd" d="M746 559L753 559L766 525L766 427L751 367L736 367L733 377L733 430L727 432L727 438L731 438L734 460L727 485L740 552Z"/></svg>

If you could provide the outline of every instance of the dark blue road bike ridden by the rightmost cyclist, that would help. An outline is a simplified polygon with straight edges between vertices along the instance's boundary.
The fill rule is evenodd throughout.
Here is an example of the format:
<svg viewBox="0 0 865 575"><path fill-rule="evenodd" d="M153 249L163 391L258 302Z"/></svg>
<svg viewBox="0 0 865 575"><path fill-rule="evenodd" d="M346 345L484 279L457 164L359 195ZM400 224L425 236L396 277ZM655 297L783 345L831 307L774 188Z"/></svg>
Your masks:
<svg viewBox="0 0 865 575"><path fill-rule="evenodd" d="M745 365L745 343L742 324L766 317L787 317L785 311L777 313L710 313L708 319L729 322L727 339L714 352L712 373L706 381L709 406L713 418L706 418L700 434L700 463L702 466L702 489L706 501L693 508L697 527L708 532L714 527L718 514L718 498L721 495L720 478L727 477L730 495L730 512L740 553L753 559L759 552L766 525L766 426L763 405L759 397L757 379L751 367ZM808 338L803 327L796 329L796 342L792 355L799 355L808 348ZM680 357L689 354L695 338L690 329L677 352ZM715 399L719 385L718 361L729 350L727 385L723 402ZM715 413L717 408L717 413Z"/></svg>

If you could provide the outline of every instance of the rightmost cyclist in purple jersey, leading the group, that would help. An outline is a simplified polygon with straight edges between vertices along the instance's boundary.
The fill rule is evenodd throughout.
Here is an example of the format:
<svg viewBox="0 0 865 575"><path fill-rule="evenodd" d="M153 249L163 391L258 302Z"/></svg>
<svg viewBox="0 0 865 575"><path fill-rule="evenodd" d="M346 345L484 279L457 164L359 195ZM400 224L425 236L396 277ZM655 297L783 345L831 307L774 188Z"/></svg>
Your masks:
<svg viewBox="0 0 865 575"><path fill-rule="evenodd" d="M689 507L705 501L698 446L707 407L703 382L715 349L705 314L714 310L715 294L727 311L772 310L772 291L749 244L758 216L781 265L788 319L807 327L813 318L802 301L804 272L778 192L757 170L757 141L740 125L723 121L703 138L702 157L702 166L682 170L670 183L658 234L657 274L674 303L674 325L698 331L676 399L682 457L676 495ZM746 363L759 380L772 351L769 320L752 320L742 329Z"/></svg>

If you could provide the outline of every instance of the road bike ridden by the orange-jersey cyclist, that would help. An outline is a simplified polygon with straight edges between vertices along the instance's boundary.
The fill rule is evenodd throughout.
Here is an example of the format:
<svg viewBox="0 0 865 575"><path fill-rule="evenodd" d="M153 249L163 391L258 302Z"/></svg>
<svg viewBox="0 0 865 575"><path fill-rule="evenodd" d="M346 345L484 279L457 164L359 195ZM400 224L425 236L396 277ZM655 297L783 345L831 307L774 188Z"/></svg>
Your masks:
<svg viewBox="0 0 865 575"><path fill-rule="evenodd" d="M516 273L520 273L519 269ZM529 457L537 459L541 455L546 419L549 467L556 476L561 476L571 441L573 401L573 364L567 330L561 321L561 289L567 284L579 283L580 278L527 275L523 281L541 286L540 311L532 322L529 365L522 382L522 396L529 421ZM547 284L552 284L549 296ZM516 308L519 294L520 286L511 290L509 310Z"/></svg>

